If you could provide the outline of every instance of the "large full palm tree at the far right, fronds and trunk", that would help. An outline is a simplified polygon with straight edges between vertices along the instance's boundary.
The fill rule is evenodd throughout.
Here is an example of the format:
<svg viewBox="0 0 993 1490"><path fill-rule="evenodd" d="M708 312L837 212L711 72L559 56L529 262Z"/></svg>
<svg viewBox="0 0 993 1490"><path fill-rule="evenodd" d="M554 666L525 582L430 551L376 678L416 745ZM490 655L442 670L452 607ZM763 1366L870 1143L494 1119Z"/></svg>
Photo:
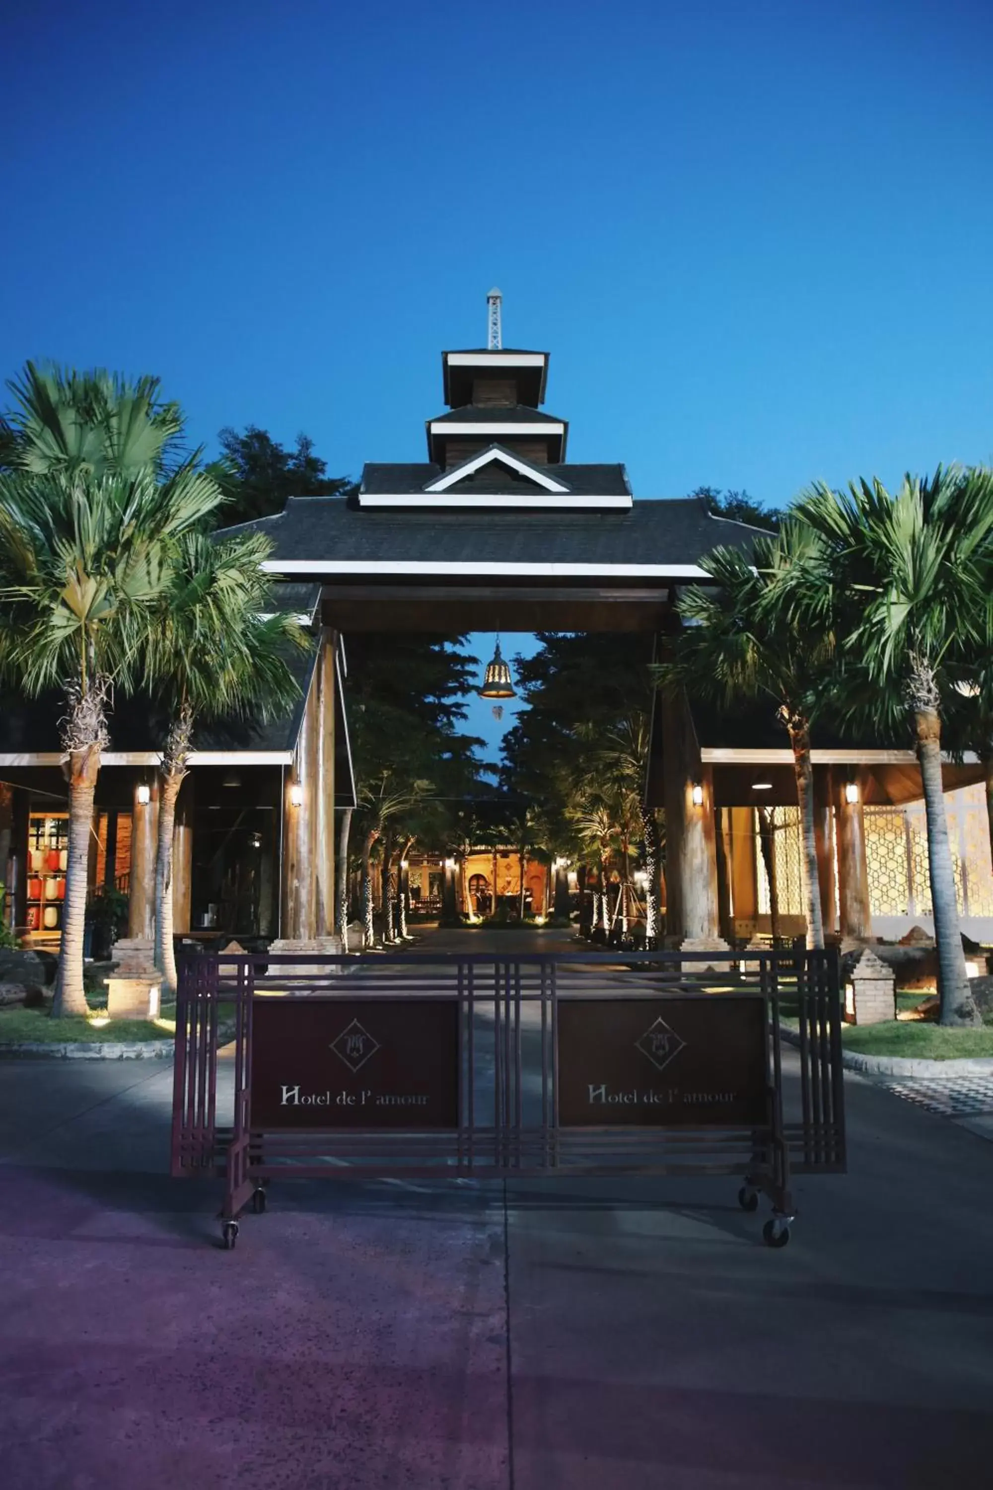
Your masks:
<svg viewBox="0 0 993 1490"><path fill-rule="evenodd" d="M872 691L863 717L893 715L913 729L927 822L930 894L938 945L941 1022L980 1016L962 952L954 872L941 778L942 693L989 639L993 580L993 472L938 468L907 475L890 495L880 481L847 492L817 484L796 514L828 550L817 584L796 593L795 614L817 623L826 606L847 606L844 647ZM794 587L795 589L795 587Z"/></svg>

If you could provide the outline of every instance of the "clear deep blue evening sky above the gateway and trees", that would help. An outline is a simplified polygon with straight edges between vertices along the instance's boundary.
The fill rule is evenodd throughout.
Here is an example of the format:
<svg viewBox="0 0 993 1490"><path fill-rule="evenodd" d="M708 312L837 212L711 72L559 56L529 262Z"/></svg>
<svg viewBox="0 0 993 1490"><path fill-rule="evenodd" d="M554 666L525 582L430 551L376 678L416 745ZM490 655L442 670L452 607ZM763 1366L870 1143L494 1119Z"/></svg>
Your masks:
<svg viewBox="0 0 993 1490"><path fill-rule="evenodd" d="M989 0L9 4L0 374L158 372L197 441L357 474L423 457L496 282L636 496L987 460L992 42Z"/></svg>

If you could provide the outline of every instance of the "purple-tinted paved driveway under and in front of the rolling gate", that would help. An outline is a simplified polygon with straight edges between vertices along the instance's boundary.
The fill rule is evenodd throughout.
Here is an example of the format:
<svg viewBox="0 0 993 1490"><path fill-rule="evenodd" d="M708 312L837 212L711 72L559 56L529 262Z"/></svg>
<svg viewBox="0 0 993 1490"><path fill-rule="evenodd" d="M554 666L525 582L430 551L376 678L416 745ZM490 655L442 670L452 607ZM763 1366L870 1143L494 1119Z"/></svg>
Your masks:
<svg viewBox="0 0 993 1490"><path fill-rule="evenodd" d="M785 1252L732 1180L329 1177L225 1253L164 1065L1 1061L0 1486L986 1487L993 1144L847 1091Z"/></svg>

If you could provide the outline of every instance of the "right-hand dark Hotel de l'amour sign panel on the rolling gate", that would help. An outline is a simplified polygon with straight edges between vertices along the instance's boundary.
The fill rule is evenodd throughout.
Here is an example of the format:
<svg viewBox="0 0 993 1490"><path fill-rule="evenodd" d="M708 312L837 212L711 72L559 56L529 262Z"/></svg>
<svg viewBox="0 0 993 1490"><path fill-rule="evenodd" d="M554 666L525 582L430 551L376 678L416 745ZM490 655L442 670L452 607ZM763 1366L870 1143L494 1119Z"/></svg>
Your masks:
<svg viewBox="0 0 993 1490"><path fill-rule="evenodd" d="M761 998L560 998L563 1126L761 1126Z"/></svg>

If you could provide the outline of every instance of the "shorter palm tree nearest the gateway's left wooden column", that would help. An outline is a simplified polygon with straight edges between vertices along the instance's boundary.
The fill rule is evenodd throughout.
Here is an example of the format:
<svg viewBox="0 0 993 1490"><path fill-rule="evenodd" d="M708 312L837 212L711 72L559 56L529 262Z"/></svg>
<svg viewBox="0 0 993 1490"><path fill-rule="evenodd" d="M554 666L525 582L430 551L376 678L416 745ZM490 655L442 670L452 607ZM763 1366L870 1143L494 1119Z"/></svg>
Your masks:
<svg viewBox="0 0 993 1490"><path fill-rule="evenodd" d="M149 633L149 682L171 715L155 855L155 966L170 992L176 991L173 830L195 726L220 717L265 721L299 694L287 653L308 642L290 615L268 612L271 583L262 565L271 551L262 533L214 541L185 533Z"/></svg>

